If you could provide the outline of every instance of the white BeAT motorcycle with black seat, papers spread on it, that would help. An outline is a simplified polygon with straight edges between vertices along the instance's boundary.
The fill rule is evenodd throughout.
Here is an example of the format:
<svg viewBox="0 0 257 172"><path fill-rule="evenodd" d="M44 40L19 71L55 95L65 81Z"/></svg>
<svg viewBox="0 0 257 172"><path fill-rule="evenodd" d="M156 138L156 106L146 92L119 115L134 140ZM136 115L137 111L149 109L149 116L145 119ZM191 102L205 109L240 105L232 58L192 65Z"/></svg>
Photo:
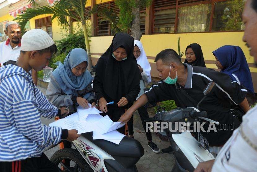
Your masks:
<svg viewBox="0 0 257 172"><path fill-rule="evenodd" d="M60 171L137 172L136 163L144 155L140 142L128 136L117 145L107 140L93 140L93 132L88 132L81 134L72 144L76 149L60 149L50 158ZM64 161L69 161L70 166Z"/></svg>

